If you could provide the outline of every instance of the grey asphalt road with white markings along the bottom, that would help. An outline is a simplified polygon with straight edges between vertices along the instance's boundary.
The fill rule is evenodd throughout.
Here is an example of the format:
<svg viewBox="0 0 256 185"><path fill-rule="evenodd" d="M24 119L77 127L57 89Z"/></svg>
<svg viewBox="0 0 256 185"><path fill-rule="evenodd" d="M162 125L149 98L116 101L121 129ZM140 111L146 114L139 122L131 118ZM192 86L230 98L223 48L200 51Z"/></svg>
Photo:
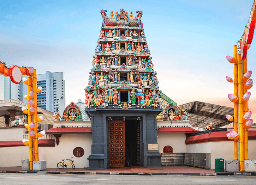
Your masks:
<svg viewBox="0 0 256 185"><path fill-rule="evenodd" d="M256 184L254 176L175 176L175 175L69 175L69 174L29 174L0 173L0 184L19 185L64 185L64 184Z"/></svg>

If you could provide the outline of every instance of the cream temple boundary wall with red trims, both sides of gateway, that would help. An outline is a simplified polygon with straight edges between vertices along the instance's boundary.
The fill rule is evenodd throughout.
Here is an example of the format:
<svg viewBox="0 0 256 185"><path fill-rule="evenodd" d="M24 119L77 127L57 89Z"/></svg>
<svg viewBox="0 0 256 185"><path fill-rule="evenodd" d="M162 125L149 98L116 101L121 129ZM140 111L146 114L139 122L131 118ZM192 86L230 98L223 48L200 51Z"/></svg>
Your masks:
<svg viewBox="0 0 256 185"><path fill-rule="evenodd" d="M56 168L62 159L70 159L73 156L76 168L89 167L88 156L91 154L92 134L90 127L79 127L71 124L66 128L52 128L53 134L47 134L39 139L39 158L47 161L48 168ZM85 125L85 124L84 124ZM161 123L157 123L161 125ZM86 123L86 126L89 126ZM214 169L216 158L233 159L234 142L227 140L226 131L212 132L190 136L189 127L157 128L157 143L159 152L163 153L163 147L171 146L173 153L210 153L210 168ZM73 128L72 128L73 127ZM22 143L27 138L24 127L0 127L0 167L21 166L22 159L28 159L28 147ZM70 131L71 130L71 131ZM80 130L80 132L78 132ZM183 133L180 133L183 132ZM60 134L62 133L62 134ZM58 138L58 136L60 136ZM59 141L57 141L59 140ZM58 145L57 145L58 143ZM84 149L82 157L73 155L76 147ZM249 130L249 160L255 159L256 153L256 130ZM67 161L66 161L67 162Z"/></svg>

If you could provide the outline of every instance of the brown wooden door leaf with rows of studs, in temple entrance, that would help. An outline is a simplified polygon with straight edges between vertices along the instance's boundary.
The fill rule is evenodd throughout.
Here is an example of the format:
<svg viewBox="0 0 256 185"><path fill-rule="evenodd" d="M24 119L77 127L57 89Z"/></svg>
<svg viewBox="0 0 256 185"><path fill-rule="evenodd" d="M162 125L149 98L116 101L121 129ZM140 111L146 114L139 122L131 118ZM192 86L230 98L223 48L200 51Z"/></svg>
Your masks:
<svg viewBox="0 0 256 185"><path fill-rule="evenodd" d="M125 127L124 121L109 121L109 166L125 167Z"/></svg>

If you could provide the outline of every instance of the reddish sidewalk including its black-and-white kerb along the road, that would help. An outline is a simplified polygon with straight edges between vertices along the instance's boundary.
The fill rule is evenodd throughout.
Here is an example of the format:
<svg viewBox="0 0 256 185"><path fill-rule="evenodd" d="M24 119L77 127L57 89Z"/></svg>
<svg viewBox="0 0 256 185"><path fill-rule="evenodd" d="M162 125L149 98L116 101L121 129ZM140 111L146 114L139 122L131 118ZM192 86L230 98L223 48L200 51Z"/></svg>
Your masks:
<svg viewBox="0 0 256 185"><path fill-rule="evenodd" d="M214 172L214 169L200 169L189 166L129 167L89 170L84 168L47 168L44 171L22 171L21 167L0 167L0 172L9 173L59 173L59 174L124 174L124 175L256 175L256 173Z"/></svg>

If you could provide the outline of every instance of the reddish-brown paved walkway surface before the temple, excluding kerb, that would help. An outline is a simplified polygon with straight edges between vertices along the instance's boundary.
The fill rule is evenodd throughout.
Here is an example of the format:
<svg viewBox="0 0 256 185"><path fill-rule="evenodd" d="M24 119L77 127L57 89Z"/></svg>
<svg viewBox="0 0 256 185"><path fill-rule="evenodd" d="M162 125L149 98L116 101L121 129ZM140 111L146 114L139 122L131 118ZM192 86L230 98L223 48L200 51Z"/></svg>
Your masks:
<svg viewBox="0 0 256 185"><path fill-rule="evenodd" d="M0 171L21 171L21 166L17 167L0 167ZM189 166L163 166L163 167L130 167L130 168L111 168L111 169L96 169L89 170L84 168L47 168L46 171L56 172L113 172L113 173L214 173L214 169L200 169Z"/></svg>

